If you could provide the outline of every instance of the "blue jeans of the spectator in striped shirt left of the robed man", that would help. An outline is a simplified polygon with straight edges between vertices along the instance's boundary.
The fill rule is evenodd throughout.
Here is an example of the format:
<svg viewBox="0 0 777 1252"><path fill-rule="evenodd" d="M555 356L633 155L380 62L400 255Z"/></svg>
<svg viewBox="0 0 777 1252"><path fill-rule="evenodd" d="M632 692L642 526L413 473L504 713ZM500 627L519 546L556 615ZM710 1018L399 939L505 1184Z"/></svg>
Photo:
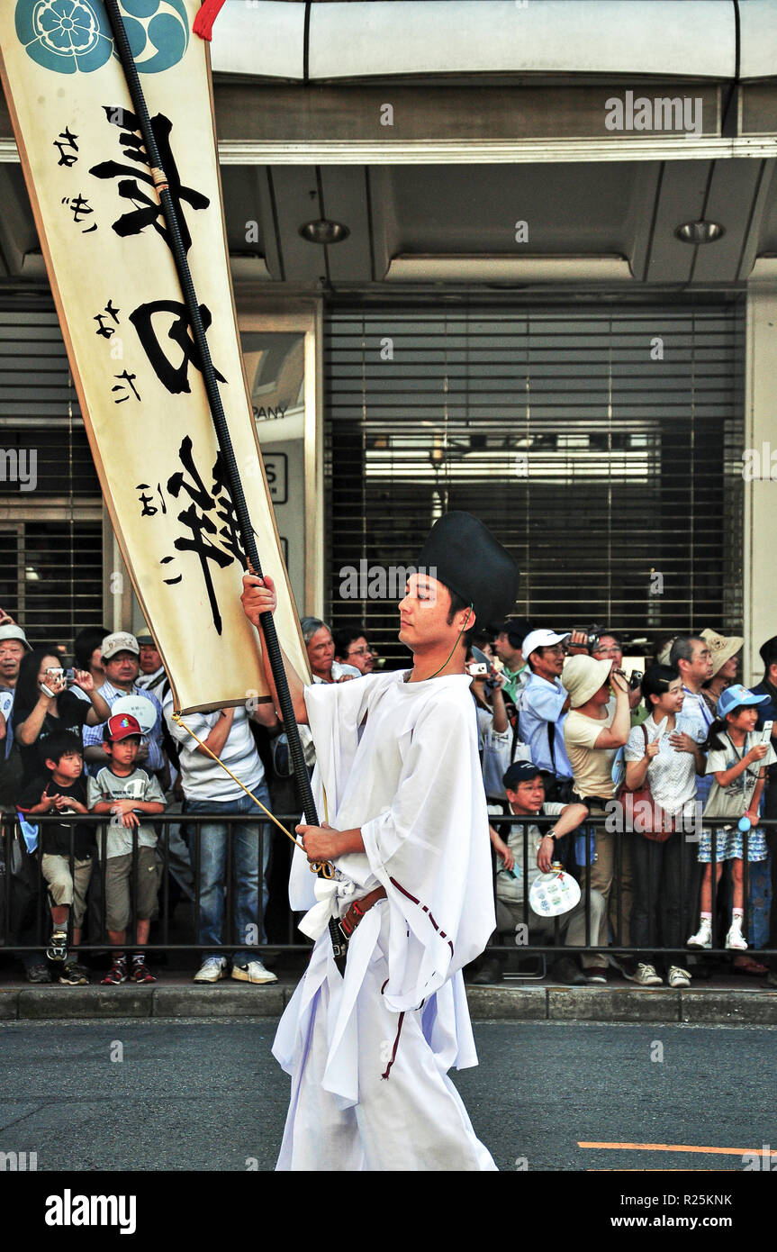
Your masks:
<svg viewBox="0 0 777 1252"><path fill-rule="evenodd" d="M255 786L255 795L263 804L270 808L270 796L264 780ZM241 795L239 800L188 800L186 814L213 814L245 813L251 818L260 810L248 795ZM259 835L264 826L263 856L262 856L262 920L259 919ZM255 945L267 943L264 933L264 910L267 906L267 866L270 855L270 839L265 823L235 821L228 825L224 821L203 821L199 826L199 888L200 888L200 924L199 942L213 945L221 944L221 925L224 921L224 885L226 873L226 844L231 838L231 864L234 881L234 920L235 942ZM196 828L191 825L190 840L196 840ZM190 843L191 864L196 866L196 843ZM229 884L226 884L229 885ZM208 957L219 957L218 952L204 952L203 960ZM236 965L245 965L256 958L256 952L235 952L233 962Z"/></svg>

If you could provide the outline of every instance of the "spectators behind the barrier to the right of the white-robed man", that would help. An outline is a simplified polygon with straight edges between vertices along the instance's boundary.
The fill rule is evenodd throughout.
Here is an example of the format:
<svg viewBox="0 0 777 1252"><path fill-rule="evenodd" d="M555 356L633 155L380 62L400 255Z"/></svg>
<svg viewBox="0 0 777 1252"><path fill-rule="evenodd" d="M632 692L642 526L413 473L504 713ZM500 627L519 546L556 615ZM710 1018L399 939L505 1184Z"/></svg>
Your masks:
<svg viewBox="0 0 777 1252"><path fill-rule="evenodd" d="M743 640L713 630L657 640L629 675L618 636L597 627L510 618L479 644L490 661L473 697L498 873L494 947L473 980L519 963L523 944L509 931L528 924L529 947L586 948L552 964L571 984L622 975L688 987L709 977L702 953L714 947L731 952L734 973L777 985L777 963L753 950L777 947L776 840L761 825L777 815L777 636L761 649L764 676L752 690L737 682ZM582 818L574 830L524 829L502 826L499 813ZM552 919L527 916L526 904L552 864L578 880L581 905L548 938Z"/></svg>

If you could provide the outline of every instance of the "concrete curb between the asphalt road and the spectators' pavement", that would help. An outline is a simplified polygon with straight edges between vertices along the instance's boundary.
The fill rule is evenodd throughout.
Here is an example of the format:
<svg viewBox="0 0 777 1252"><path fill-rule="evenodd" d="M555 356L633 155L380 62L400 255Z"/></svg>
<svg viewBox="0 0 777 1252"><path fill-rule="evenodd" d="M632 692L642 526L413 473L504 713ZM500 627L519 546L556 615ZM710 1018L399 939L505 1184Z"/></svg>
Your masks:
<svg viewBox="0 0 777 1252"><path fill-rule="evenodd" d="M279 1017L295 983L0 989L0 1020ZM777 990L637 987L468 987L475 1020L777 1025Z"/></svg>

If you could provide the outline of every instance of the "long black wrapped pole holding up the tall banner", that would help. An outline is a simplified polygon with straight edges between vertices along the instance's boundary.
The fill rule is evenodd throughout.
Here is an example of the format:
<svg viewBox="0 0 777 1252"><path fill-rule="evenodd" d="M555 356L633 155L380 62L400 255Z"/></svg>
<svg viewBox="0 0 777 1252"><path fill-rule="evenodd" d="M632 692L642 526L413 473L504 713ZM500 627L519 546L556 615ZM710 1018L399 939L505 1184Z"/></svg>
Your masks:
<svg viewBox="0 0 777 1252"><path fill-rule="evenodd" d="M240 537L243 540L243 546L251 567L259 575L259 577L262 577L262 563L259 561L259 553L256 552L254 531L251 527L250 517L248 515L245 493L243 491L243 483L240 482L240 472L238 470L234 448L231 446L231 438L226 424L226 417L224 414L224 406L221 404L221 396L219 393L219 386L216 382L215 371L213 368L213 361L210 359L210 349L208 347L205 327L203 326L200 307L196 299L196 293L194 290L194 284L191 282L191 270L189 269L189 262L186 260L186 250L184 248L181 239L180 225L178 222L178 213L175 209L175 204L173 202L173 197L170 195L164 168L161 165L161 160L159 156L159 148L156 145L156 139L154 136L154 130L151 128L151 119L149 116L148 105L145 103L145 96L143 93L143 88L140 85L140 78L135 68L135 59L133 56L129 39L126 38L124 20L119 11L119 5L116 0L105 0L105 9L108 11L108 16L113 28L116 53L119 54L119 60L121 61L121 69L124 71L126 86L129 89L130 99L133 101L133 109L135 110L135 115L140 125L140 133L143 135L143 143L149 158L149 165L151 169L151 177L154 179L154 187L156 188L159 202L161 204L161 209L165 217L165 223L170 234L170 247L173 252L173 259L175 262L175 269L178 272L181 293L186 305L186 312L189 314L189 323L191 326L194 343L196 344L196 349L200 358L203 381L205 383L208 404L210 407L210 416L213 418L213 424L215 427L216 439L224 462L224 472L229 482L229 491L233 498L233 503L235 506ZM283 667L283 657L280 655L280 644L278 641L275 622L273 620L272 613L263 613L260 621L262 621L262 632L264 635L264 646L267 649L270 669L273 671L273 679L275 681L275 690L278 692L280 716L283 717L284 730L289 740L289 755L294 770L294 785L297 788L298 800L302 805L308 825L318 826L319 825L318 813L315 809L313 790L310 788L310 777L308 774L308 767L305 765L305 756L299 737L299 727L297 725L297 719L294 716L292 694L289 691L289 684L287 681L285 670ZM324 876L323 866L319 869L319 876ZM342 963L345 957L345 942L343 940L343 936L334 918L330 918L329 920L329 934L332 936L332 945L334 949L335 962L338 963L338 968L340 969L342 973L343 972Z"/></svg>

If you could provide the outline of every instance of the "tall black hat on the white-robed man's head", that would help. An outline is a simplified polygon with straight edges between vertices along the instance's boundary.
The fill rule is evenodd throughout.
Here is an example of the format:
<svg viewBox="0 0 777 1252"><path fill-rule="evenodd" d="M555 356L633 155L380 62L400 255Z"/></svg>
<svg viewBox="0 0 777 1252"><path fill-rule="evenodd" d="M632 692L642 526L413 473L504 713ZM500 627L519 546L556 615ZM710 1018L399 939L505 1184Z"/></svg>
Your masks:
<svg viewBox="0 0 777 1252"><path fill-rule="evenodd" d="M444 513L429 531L418 566L473 606L479 630L514 607L518 566L472 513Z"/></svg>

